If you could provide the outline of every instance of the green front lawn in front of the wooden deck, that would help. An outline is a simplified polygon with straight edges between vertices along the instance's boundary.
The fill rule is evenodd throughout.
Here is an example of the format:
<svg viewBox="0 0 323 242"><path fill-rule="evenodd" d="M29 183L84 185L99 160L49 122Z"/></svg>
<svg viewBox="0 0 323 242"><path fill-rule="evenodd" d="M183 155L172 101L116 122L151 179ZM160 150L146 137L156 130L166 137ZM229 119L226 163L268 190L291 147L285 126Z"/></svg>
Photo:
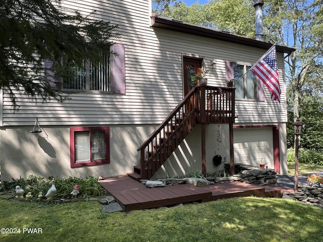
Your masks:
<svg viewBox="0 0 323 242"><path fill-rule="evenodd" d="M101 213L98 202L44 205L0 196L0 241L321 241L323 209L272 198L232 198L168 209ZM23 233L41 228L41 234Z"/></svg>

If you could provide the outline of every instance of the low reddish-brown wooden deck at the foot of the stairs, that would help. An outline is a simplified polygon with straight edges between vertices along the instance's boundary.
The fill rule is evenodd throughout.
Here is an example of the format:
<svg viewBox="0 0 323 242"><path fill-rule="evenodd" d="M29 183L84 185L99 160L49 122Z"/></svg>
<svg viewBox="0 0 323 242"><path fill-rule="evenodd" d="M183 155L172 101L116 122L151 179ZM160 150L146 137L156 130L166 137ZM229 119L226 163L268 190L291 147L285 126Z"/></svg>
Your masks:
<svg viewBox="0 0 323 242"><path fill-rule="evenodd" d="M281 188L253 184L232 183L194 187L189 184L163 188L147 188L133 178L124 176L107 177L99 181L125 211L156 208L194 201L214 201L232 197L281 197Z"/></svg>

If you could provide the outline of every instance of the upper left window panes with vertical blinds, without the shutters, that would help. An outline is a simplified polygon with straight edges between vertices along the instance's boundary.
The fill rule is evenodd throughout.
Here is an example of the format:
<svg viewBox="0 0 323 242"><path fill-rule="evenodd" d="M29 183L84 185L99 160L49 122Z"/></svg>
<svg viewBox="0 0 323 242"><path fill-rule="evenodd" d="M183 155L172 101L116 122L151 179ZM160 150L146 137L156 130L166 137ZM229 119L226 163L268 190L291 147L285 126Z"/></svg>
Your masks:
<svg viewBox="0 0 323 242"><path fill-rule="evenodd" d="M63 78L63 89L77 91L111 91L110 58L102 53L101 62L94 65L83 61L81 67L71 64Z"/></svg>

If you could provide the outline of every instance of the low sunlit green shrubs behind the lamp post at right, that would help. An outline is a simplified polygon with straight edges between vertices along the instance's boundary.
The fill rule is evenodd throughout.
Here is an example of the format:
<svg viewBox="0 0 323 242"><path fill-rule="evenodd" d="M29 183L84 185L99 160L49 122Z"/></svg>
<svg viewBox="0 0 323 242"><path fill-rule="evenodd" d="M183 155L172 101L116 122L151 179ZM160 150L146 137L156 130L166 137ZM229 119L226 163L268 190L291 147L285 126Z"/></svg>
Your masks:
<svg viewBox="0 0 323 242"><path fill-rule="evenodd" d="M304 148L300 148L298 159L300 163L323 165L323 151L307 150ZM294 162L294 161L295 161L295 149L288 149L287 162Z"/></svg>

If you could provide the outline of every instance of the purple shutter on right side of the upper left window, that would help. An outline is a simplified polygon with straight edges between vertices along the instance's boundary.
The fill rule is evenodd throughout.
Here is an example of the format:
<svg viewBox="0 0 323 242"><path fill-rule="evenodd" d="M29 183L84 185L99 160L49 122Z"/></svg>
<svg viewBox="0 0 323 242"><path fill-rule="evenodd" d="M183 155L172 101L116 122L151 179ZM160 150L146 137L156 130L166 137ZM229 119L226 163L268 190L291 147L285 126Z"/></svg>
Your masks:
<svg viewBox="0 0 323 242"><path fill-rule="evenodd" d="M113 93L126 94L125 46L114 44L112 51L117 53L112 56Z"/></svg>

